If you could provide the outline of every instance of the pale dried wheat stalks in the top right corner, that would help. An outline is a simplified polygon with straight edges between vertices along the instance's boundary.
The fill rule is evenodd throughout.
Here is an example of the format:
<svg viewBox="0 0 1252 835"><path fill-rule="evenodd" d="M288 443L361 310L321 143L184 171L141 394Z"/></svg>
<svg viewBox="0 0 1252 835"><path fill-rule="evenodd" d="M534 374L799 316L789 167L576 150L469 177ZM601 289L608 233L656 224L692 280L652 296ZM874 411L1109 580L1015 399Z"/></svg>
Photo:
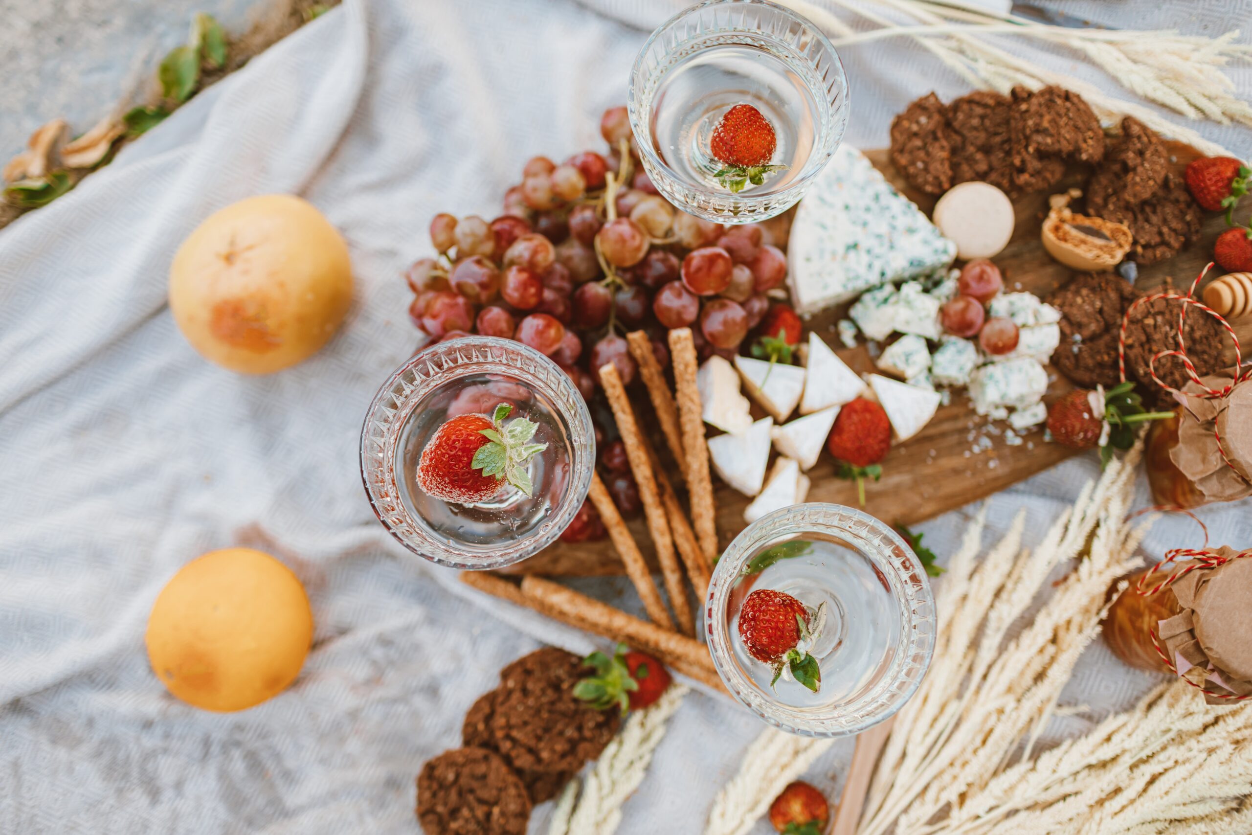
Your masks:
<svg viewBox="0 0 1252 835"><path fill-rule="evenodd" d="M1018 84L1030 89L1058 84L1082 94L1106 125L1116 125L1122 116L1131 115L1204 154L1238 155L1149 108L1109 96L1078 78L1017 58L985 36L1014 35L1063 45L1084 55L1136 95L1188 119L1252 125L1252 105L1234 95L1234 83L1222 71L1232 61L1252 60L1252 46L1234 43L1238 31L1203 38L1164 30L1062 29L930 0L833 0L878 26L856 31L808 0L782 1L826 30L836 46L911 38L972 86L1008 93ZM918 25L901 25L880 10L901 13Z"/></svg>

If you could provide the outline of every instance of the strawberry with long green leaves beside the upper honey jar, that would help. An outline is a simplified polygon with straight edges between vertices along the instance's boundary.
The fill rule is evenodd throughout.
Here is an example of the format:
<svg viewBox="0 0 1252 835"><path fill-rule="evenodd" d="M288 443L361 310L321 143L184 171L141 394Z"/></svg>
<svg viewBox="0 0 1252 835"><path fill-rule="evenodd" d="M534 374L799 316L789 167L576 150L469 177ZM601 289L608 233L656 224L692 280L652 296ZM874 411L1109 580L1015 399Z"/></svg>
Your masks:
<svg viewBox="0 0 1252 835"><path fill-rule="evenodd" d="M1129 449L1134 443L1134 424L1173 417L1173 412L1148 412L1134 392L1134 383L1118 383L1104 391L1069 392L1048 409L1048 432L1057 443L1074 449L1101 448L1101 462L1108 463L1113 449Z"/></svg>

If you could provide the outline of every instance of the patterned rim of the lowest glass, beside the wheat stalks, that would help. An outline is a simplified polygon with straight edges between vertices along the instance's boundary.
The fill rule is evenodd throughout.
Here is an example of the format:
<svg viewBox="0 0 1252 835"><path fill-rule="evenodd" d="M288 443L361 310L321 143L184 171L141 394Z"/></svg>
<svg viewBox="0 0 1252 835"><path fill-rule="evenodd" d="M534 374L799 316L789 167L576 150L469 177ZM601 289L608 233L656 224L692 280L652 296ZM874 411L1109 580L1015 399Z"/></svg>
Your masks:
<svg viewBox="0 0 1252 835"><path fill-rule="evenodd" d="M884 537L894 546L893 551L899 555L898 558L896 555L883 553L884 550L880 546L870 545L864 535L849 530L854 523L864 526L874 536ZM762 694L760 686L740 670L731 646L731 630L734 627L729 623L725 610L744 563L765 545L772 541L795 538L805 532L824 533L845 540L869 557L884 575L890 570L891 580L889 582L893 585L893 596L900 606L900 613L905 622L899 651L891 661L889 674L884 675L869 694L848 705L851 714L846 717L814 715L813 709L795 709L770 700ZM904 590L913 590L911 596L905 595L908 606L904 606L905 601L895 590L895 583L899 583ZM919 628L926 623L929 623L929 628ZM740 531L714 567L712 578L709 582L709 595L705 600L709 650L714 667L726 689L737 702L765 722L801 736L849 736L895 715L916 694L926 670L930 667L936 626L934 593L925 568L903 537L889 525L864 511L824 502L793 505L772 511ZM901 682L903 687L899 686ZM829 712L833 709L824 710Z"/></svg>

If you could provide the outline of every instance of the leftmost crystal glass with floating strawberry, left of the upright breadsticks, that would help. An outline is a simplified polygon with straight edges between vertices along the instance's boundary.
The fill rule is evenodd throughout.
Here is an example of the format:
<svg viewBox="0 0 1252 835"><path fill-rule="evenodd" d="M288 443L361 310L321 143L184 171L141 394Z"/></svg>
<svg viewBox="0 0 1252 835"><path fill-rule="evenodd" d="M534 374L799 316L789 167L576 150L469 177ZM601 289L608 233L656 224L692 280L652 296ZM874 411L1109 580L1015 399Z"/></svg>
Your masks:
<svg viewBox="0 0 1252 835"><path fill-rule="evenodd" d="M498 568L552 543L586 498L595 429L568 374L521 342L432 344L383 383L361 434L379 521L409 551Z"/></svg>

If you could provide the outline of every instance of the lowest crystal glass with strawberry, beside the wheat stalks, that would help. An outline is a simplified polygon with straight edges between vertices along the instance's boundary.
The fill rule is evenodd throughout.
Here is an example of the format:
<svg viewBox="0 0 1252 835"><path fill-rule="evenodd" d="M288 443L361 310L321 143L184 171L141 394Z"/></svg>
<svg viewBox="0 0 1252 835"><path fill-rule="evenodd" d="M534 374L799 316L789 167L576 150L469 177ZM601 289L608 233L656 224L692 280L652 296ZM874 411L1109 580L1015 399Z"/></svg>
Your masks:
<svg viewBox="0 0 1252 835"><path fill-rule="evenodd" d="M806 736L859 734L895 714L934 650L921 561L890 527L839 505L749 525L714 570L706 621L731 694Z"/></svg>

